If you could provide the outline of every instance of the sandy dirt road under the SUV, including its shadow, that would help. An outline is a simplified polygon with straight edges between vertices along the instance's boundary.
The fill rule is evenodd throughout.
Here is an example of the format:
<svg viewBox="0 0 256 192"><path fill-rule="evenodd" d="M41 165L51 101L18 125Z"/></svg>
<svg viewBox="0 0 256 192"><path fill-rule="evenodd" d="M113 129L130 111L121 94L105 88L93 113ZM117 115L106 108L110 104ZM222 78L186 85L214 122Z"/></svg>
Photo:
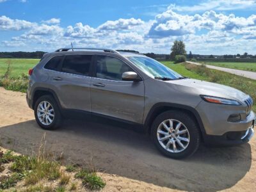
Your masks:
<svg viewBox="0 0 256 192"><path fill-rule="evenodd" d="M1 145L20 153L31 152L45 132L25 96L0 88ZM193 157L180 161L159 154L141 133L100 122L66 120L60 129L46 131L46 138L47 146L63 152L65 160L85 163L92 158L100 170L138 180L138 186L142 181L186 191L255 190L256 137L239 147L202 145ZM134 191L153 190L149 186Z"/></svg>

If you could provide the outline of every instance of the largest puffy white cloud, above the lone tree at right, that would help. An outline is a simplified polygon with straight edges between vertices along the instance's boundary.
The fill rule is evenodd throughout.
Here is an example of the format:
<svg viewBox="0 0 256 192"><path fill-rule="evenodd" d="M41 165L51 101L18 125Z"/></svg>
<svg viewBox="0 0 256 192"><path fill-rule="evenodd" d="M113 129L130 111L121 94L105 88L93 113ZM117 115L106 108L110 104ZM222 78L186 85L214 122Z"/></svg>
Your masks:
<svg viewBox="0 0 256 192"><path fill-rule="evenodd" d="M155 22L148 31L150 38L165 38L168 36L183 36L196 34L207 30L221 30L237 35L248 35L255 31L256 15L236 17L234 14L223 15L214 11L202 15L181 15L173 10L167 10L156 16Z"/></svg>

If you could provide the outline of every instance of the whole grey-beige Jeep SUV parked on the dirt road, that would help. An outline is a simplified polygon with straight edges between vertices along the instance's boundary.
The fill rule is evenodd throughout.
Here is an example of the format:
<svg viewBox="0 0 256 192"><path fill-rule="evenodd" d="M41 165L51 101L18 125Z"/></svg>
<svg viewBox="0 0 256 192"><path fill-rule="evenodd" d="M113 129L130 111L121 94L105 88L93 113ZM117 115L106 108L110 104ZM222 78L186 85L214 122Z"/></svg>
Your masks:
<svg viewBox="0 0 256 192"><path fill-rule="evenodd" d="M63 117L111 118L142 128L166 156L195 153L201 141L236 145L253 136L249 95L180 76L143 54L64 48L29 70L27 101L43 129Z"/></svg>

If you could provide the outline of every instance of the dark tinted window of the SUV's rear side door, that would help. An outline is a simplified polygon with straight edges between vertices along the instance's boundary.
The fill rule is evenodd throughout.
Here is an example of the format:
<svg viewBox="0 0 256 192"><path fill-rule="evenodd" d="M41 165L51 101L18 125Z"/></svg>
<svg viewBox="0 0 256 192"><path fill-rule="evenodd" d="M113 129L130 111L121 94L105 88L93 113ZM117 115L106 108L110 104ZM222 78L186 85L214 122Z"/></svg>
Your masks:
<svg viewBox="0 0 256 192"><path fill-rule="evenodd" d="M68 55L63 61L62 71L70 74L88 76L91 55Z"/></svg>

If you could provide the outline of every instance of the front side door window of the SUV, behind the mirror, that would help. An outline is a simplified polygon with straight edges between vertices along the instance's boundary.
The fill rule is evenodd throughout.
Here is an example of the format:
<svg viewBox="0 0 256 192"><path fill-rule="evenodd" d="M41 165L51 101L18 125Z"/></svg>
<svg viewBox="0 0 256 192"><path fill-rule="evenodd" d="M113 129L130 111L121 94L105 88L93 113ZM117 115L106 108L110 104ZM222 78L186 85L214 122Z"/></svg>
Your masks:
<svg viewBox="0 0 256 192"><path fill-rule="evenodd" d="M134 70L117 58L111 56L97 56L96 77L98 78L122 81L122 74L128 71Z"/></svg>

